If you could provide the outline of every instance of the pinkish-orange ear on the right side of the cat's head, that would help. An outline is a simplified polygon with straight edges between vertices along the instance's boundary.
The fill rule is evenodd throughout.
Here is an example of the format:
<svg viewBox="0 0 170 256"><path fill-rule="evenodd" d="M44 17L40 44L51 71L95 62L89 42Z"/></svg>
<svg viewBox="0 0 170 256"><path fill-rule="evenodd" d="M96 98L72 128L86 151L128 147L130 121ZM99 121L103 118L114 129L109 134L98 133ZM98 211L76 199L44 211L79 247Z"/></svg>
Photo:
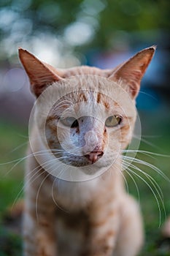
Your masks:
<svg viewBox="0 0 170 256"><path fill-rule="evenodd" d="M109 79L121 84L134 99L140 89L140 83L152 57L155 53L155 46L141 50L131 59L113 70Z"/></svg>

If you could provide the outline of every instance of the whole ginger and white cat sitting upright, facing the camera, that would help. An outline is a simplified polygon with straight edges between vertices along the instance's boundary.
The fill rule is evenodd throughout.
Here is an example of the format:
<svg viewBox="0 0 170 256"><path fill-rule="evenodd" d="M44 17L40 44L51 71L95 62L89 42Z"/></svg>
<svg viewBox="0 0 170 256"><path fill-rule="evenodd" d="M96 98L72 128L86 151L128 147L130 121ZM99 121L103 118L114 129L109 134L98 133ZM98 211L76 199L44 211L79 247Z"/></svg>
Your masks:
<svg viewBox="0 0 170 256"><path fill-rule="evenodd" d="M55 69L19 58L36 96L26 162L23 255L135 256L139 204L125 191L121 152L155 46L115 69Z"/></svg>

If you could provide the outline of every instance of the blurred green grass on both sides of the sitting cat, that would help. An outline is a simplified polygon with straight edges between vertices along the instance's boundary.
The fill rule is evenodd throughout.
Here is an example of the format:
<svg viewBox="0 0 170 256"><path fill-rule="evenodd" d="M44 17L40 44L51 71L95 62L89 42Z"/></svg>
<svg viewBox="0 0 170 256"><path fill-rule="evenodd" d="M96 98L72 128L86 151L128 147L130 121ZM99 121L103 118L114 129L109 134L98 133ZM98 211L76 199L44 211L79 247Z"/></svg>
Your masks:
<svg viewBox="0 0 170 256"><path fill-rule="evenodd" d="M147 120L150 120L147 116ZM156 151L161 154L169 154L170 148L170 134L169 134L169 121L162 117L161 126L157 120L153 118L144 127L145 132L150 132L152 135L152 127L154 127L154 135L163 134L162 137L150 139L150 143L154 143L160 149L155 149L152 146L148 146L146 143L142 143L140 148L146 151ZM166 121L165 121L166 120ZM162 125L163 124L163 125ZM150 127L151 126L151 127ZM149 127L149 128L148 128ZM163 129L161 129L163 127ZM24 157L26 151L26 142L28 140L28 132L25 127L15 126L14 124L1 123L0 126L0 256L20 256L21 255L21 238L20 234L14 232L4 224L4 219L7 215L7 208L19 197L23 197L23 170L24 162L20 162L19 165L15 165L15 162L4 164L4 162L14 161ZM148 140L148 139L147 139ZM153 165L159 167L166 176L170 178L170 158L169 157L148 157L146 155L139 154L138 157L142 158L146 162L150 162ZM142 167L143 169L143 167ZM164 204L167 214L170 214L170 186L169 182L164 178L150 170L150 168L144 168L147 173L150 173L155 181L161 187L164 197ZM144 218L144 226L146 233L146 242L144 249L140 256L168 256L170 255L169 241L163 241L161 238L161 225L165 221L165 214L161 201L161 219L159 216L158 204L155 197L150 191L150 188L144 183L144 181L136 178L136 183L139 187L140 205L142 208L142 214ZM136 187L134 181L128 178L129 192L138 199ZM21 191L21 193L19 193ZM19 194L18 194L19 193Z"/></svg>

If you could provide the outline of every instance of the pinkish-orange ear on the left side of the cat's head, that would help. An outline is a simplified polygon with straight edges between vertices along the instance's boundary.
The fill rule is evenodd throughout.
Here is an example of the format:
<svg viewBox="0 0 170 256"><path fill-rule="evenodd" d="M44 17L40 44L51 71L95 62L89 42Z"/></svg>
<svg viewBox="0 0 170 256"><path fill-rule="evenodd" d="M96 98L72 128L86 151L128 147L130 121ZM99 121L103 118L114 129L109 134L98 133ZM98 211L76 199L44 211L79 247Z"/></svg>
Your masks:
<svg viewBox="0 0 170 256"><path fill-rule="evenodd" d="M27 50L19 48L18 53L20 61L30 80L31 91L33 91L36 97L39 97L47 86L63 79L54 72L54 69L50 69L50 65L46 65L42 61L39 61L39 59Z"/></svg>

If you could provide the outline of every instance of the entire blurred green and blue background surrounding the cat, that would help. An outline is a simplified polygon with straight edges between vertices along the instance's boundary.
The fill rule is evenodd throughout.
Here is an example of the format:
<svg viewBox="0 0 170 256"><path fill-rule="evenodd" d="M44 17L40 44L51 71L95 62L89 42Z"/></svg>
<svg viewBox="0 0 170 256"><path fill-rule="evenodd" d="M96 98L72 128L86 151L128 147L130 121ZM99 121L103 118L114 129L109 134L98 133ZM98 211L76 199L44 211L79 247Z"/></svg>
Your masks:
<svg viewBox="0 0 170 256"><path fill-rule="evenodd" d="M0 1L0 256L21 255L20 221L9 212L23 197L22 158L34 97L18 61L18 48L30 50L54 67L111 68L142 48L158 45L136 102L142 122L139 149L170 155L169 29L169 0ZM137 157L170 178L169 157ZM170 214L169 181L151 167L140 167L161 187ZM139 199L134 181L127 178L129 192ZM136 178L146 232L141 256L170 255L169 240L161 236L165 214L158 188L144 178L149 186Z"/></svg>

